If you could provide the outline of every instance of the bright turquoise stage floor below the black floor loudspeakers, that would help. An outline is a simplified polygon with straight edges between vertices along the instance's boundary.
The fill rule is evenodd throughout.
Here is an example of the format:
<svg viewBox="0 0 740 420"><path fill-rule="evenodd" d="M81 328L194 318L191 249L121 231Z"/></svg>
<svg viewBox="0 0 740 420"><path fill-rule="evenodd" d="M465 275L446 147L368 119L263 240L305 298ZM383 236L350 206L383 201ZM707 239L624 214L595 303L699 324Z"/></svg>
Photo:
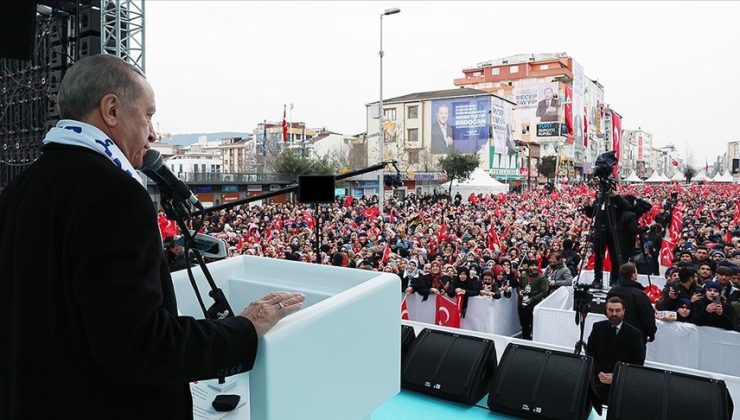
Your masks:
<svg viewBox="0 0 740 420"><path fill-rule="evenodd" d="M373 412L372 420L449 420L449 419L515 419L506 414L494 413L486 405L488 395L484 396L478 404L470 407L450 401L444 401L424 394L402 389L395 397L381 405ZM590 419L606 418L591 412Z"/></svg>

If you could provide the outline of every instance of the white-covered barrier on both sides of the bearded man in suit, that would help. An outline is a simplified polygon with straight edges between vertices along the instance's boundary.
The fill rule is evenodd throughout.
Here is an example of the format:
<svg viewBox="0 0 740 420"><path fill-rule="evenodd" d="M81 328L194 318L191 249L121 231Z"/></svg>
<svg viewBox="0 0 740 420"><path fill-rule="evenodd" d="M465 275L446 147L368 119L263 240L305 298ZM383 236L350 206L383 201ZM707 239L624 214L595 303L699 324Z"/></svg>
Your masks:
<svg viewBox="0 0 740 420"><path fill-rule="evenodd" d="M595 322L606 319L589 314L583 339ZM724 375L740 376L740 333L675 321L656 321L655 341L647 345L646 359ZM574 348L580 334L575 324L572 289L561 287L534 309L534 341Z"/></svg>

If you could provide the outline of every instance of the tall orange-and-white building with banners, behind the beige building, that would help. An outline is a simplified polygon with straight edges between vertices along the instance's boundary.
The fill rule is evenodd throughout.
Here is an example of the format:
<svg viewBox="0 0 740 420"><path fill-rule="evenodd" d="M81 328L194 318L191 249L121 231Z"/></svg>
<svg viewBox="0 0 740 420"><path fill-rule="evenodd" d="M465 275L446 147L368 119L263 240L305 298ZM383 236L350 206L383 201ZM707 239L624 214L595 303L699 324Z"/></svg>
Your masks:
<svg viewBox="0 0 740 420"><path fill-rule="evenodd" d="M515 102L515 130L522 141L541 144L542 156L566 162L561 175L588 173L607 144L604 87L566 53L520 54L463 70L456 86L479 89Z"/></svg>

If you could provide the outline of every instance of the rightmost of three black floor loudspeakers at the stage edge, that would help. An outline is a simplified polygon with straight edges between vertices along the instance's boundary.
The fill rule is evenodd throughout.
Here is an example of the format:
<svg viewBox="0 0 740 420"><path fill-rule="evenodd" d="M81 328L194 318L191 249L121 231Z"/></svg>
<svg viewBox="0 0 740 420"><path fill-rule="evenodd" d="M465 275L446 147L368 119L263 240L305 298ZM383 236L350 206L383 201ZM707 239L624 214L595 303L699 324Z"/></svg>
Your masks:
<svg viewBox="0 0 740 420"><path fill-rule="evenodd" d="M733 403L724 381L618 363L607 420L729 420Z"/></svg>

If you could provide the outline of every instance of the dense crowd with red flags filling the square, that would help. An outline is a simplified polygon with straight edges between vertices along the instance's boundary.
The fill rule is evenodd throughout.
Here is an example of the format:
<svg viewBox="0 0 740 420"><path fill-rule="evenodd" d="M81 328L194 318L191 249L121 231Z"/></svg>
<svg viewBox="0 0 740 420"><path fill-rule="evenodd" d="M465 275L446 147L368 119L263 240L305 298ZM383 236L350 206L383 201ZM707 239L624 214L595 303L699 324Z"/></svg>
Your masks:
<svg viewBox="0 0 740 420"><path fill-rule="evenodd" d="M318 218L309 205L266 203L209 214L199 232L227 241L230 255L309 263L318 258L322 264L396 274L405 293L464 295L463 316L469 296L515 293L523 336L530 337L534 306L552 290L571 285L580 270L592 270L598 259L594 254L603 252L589 241L595 196L596 188L585 184L469 197L411 194L402 201L387 200L382 215L376 197L337 197L320 207ZM740 306L731 305L738 304L740 290L739 196L736 185L619 186L618 197L630 206L637 207L636 198L649 204L630 208L615 221L621 262L635 262L640 274L658 274L666 258L661 250L670 253L659 310L685 313L688 307L695 316L680 320L737 327ZM682 220L672 221L676 207ZM167 221L163 215L160 220L164 231ZM680 237L666 250L663 238L671 223L679 224ZM173 267L184 267L182 250L166 242L176 248L169 253ZM608 245L602 249L611 250ZM620 264L615 263L612 272L618 276ZM693 283L686 283L687 276ZM713 299L715 284L722 285L722 304L705 302ZM701 298L693 293L698 288ZM715 317L701 312L705 308L728 321L708 321Z"/></svg>

